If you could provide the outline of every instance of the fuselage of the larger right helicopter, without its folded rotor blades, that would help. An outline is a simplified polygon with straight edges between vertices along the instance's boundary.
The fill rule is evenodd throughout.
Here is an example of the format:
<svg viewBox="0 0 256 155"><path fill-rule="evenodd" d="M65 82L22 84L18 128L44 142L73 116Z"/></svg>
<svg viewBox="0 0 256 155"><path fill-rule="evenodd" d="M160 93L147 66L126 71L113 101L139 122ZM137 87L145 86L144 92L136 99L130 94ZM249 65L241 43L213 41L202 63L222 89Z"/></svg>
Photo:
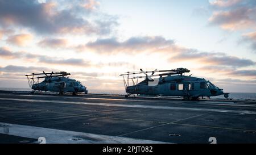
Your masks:
<svg viewBox="0 0 256 155"><path fill-rule="evenodd" d="M127 86L126 93L140 95L163 95L163 96L181 96L186 98L212 97L224 93L223 89L213 85L204 78L191 76L167 76L158 78L158 85L148 85L149 80L138 83L137 85Z"/></svg>

